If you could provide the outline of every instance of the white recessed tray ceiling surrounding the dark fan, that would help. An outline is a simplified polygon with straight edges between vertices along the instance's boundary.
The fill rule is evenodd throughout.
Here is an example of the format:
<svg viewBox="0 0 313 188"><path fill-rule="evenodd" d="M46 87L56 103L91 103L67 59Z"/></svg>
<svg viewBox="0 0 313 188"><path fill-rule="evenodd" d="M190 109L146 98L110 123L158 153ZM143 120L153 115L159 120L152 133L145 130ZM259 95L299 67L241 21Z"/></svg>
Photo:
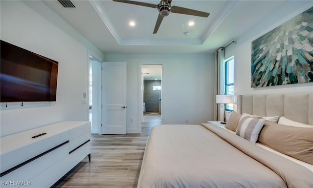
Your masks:
<svg viewBox="0 0 313 188"><path fill-rule="evenodd" d="M71 0L64 8L57 0L43 0L61 18L105 54L210 53L236 40L282 0L173 0L180 6L209 12L208 18L171 13L156 34L155 8L112 0ZM138 0L158 4L159 0ZM135 21L135 27L129 26ZM194 21L194 26L188 26ZM189 32L185 36L184 32Z"/></svg>

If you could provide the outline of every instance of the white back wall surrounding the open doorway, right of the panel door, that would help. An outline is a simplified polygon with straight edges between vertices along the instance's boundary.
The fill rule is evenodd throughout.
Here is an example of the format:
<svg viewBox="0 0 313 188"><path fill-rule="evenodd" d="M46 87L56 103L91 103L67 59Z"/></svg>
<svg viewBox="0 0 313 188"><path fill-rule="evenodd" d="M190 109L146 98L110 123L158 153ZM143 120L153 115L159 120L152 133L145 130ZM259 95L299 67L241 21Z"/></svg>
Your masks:
<svg viewBox="0 0 313 188"><path fill-rule="evenodd" d="M214 54L106 54L106 62L127 62L127 132L141 132L141 64L163 65L162 124L185 124L185 119L188 124L212 120L214 58Z"/></svg>

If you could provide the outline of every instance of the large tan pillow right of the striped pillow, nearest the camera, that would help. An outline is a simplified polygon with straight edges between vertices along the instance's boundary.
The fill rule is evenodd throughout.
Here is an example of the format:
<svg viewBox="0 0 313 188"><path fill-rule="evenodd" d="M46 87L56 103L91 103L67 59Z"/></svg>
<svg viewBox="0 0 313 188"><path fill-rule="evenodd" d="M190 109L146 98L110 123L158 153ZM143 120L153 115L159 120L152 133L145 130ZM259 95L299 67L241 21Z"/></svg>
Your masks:
<svg viewBox="0 0 313 188"><path fill-rule="evenodd" d="M313 165L313 128L266 121L259 142L278 152Z"/></svg>

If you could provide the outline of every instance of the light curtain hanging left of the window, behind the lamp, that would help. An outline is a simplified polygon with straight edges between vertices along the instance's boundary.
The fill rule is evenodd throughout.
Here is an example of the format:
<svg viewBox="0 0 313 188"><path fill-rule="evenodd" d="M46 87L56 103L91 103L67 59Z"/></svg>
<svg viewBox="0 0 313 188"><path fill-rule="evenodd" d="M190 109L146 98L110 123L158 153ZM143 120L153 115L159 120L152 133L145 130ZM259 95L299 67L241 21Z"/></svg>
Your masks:
<svg viewBox="0 0 313 188"><path fill-rule="evenodd" d="M214 121L224 121L224 104L216 104L216 95L225 93L225 49L219 48L215 52L215 80L214 80Z"/></svg>

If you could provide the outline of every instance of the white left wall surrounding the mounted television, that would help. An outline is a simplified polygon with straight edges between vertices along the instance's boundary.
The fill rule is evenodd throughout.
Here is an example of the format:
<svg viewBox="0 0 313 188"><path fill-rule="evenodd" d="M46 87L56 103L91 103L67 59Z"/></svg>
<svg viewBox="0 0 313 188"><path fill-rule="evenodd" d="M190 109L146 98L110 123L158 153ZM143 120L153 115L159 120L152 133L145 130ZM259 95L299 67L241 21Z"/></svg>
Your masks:
<svg viewBox="0 0 313 188"><path fill-rule="evenodd" d="M89 121L88 97L82 104L83 92L89 92L89 54L104 55L42 1L1 0L0 6L1 40L59 62L56 102L1 110L1 137L60 121Z"/></svg>

